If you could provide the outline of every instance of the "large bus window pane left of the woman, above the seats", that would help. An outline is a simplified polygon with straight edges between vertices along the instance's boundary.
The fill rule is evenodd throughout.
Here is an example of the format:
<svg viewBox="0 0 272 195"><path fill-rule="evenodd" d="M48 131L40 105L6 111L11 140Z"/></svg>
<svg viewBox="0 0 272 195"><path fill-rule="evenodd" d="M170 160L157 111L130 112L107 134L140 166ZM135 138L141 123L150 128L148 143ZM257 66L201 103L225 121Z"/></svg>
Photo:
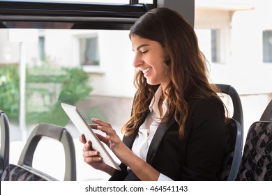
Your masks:
<svg viewBox="0 0 272 195"><path fill-rule="evenodd" d="M31 39L22 39L29 29L0 29L0 107L13 129L22 134L40 122L71 129L60 107L66 102L77 105L87 121L101 118L121 132L135 93L128 31L32 30Z"/></svg>

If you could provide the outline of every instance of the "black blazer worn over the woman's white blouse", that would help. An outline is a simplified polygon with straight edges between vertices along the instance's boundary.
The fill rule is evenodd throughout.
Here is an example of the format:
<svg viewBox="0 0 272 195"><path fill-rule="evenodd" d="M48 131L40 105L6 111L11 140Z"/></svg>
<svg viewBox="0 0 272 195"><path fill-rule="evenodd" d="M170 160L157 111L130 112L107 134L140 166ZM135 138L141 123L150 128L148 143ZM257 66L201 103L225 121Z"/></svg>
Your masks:
<svg viewBox="0 0 272 195"><path fill-rule="evenodd" d="M216 180L227 139L225 109L216 98L190 100L185 137L179 139L179 125L174 117L160 125L151 141L146 162L172 180ZM142 118L144 123L148 113ZM132 148L137 130L123 142ZM109 180L139 180L133 171L121 163Z"/></svg>

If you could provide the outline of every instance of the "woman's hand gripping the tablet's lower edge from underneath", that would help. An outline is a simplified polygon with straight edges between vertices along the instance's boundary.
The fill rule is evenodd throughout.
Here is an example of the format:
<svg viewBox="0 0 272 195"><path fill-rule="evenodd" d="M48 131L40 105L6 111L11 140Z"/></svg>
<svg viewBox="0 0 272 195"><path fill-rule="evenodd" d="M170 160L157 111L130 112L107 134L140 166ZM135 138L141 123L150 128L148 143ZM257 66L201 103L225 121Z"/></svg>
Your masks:
<svg viewBox="0 0 272 195"><path fill-rule="evenodd" d="M98 138L103 137L100 136L99 134L97 135ZM91 141L86 141L84 134L80 135L80 141L84 143L83 148L84 162L86 162L86 164L91 165L94 169L99 169L112 176L115 169L112 168L111 166L108 166L107 164L105 164L105 162L102 161L102 157L100 157L99 152L97 150L93 150L91 146Z"/></svg>

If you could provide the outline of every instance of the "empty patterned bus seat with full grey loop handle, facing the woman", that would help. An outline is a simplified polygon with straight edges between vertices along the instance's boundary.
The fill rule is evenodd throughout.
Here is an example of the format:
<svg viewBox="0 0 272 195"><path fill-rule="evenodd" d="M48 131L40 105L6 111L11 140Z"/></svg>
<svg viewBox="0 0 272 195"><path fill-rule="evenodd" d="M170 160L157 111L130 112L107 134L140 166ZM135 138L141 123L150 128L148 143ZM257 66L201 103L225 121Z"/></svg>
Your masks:
<svg viewBox="0 0 272 195"><path fill-rule="evenodd" d="M20 158L17 164L8 164L1 180L15 181L41 181L56 180L52 176L47 175L42 171L34 169L32 166L33 155L36 146L42 137L50 137L62 143L65 153L65 181L76 180L76 164L75 164L75 146L73 138L64 127L52 125L49 123L39 123L29 135L27 143L24 145Z"/></svg>

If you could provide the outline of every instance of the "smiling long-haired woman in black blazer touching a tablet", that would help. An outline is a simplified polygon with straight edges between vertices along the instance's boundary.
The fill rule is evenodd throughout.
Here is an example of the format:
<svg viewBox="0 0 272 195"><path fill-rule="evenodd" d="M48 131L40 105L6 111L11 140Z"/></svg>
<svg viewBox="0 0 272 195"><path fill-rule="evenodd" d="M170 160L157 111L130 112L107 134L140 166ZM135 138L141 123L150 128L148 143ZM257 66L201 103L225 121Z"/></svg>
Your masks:
<svg viewBox="0 0 272 195"><path fill-rule="evenodd" d="M123 141L109 123L99 139L121 160L121 171L101 162L84 135L84 161L109 180L216 180L225 139L225 107L209 84L195 32L178 13L156 8L130 29L137 93Z"/></svg>

